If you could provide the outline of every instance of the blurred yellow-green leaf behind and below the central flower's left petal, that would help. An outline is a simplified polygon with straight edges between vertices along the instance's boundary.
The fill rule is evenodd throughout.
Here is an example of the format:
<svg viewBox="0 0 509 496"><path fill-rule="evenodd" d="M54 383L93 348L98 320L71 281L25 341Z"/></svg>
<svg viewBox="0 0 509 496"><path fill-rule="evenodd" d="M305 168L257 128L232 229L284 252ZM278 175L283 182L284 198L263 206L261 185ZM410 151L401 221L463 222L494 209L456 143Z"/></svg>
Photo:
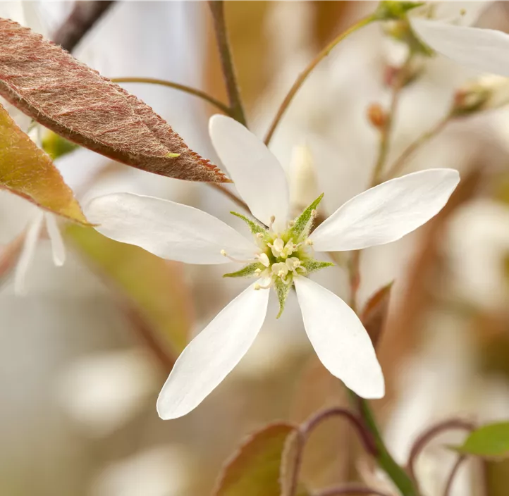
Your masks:
<svg viewBox="0 0 509 496"><path fill-rule="evenodd" d="M182 265L110 240L92 228L70 225L66 234L178 356L192 325L192 299Z"/></svg>

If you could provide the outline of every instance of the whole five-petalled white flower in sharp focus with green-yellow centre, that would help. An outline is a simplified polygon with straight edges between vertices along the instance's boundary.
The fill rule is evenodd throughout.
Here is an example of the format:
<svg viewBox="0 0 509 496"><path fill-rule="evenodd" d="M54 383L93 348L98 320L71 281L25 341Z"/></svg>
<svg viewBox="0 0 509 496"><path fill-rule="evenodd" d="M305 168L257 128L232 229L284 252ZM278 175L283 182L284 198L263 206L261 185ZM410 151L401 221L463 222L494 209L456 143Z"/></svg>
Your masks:
<svg viewBox="0 0 509 496"><path fill-rule="evenodd" d="M271 151L225 116L211 118L210 135L252 214L269 226L235 214L250 224L252 240L208 213L153 197L109 194L85 209L97 230L114 240L186 263L244 261L247 266L228 276L257 278L185 348L159 395L159 415L188 414L238 364L264 323L269 287L282 309L295 285L309 340L333 376L362 397L384 396L384 377L359 318L307 277L331 265L314 260L313 250L362 249L400 239L442 209L458 184L458 171L431 169L384 182L350 199L309 235L321 197L288 222L288 183Z"/></svg>

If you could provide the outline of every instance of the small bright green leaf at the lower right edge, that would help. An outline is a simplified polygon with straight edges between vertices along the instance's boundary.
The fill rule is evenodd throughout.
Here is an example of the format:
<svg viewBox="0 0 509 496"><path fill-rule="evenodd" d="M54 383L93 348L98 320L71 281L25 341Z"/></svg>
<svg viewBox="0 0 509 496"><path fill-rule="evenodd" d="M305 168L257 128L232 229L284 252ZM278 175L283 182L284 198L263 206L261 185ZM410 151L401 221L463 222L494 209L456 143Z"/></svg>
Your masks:
<svg viewBox="0 0 509 496"><path fill-rule="evenodd" d="M474 430L461 446L452 446L462 454L485 458L509 457L509 422L490 423Z"/></svg>

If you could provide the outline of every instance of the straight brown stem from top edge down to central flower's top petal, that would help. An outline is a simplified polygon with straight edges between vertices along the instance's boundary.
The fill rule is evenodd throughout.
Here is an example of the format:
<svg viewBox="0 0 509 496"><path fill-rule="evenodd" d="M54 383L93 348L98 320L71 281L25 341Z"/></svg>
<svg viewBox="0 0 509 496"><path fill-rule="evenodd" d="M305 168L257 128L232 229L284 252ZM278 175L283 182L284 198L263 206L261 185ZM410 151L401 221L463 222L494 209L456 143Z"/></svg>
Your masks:
<svg viewBox="0 0 509 496"><path fill-rule="evenodd" d="M214 32L216 33L219 57L221 58L221 68L223 70L226 92L228 93L228 101L230 102L229 115L238 120L241 124L247 125L244 107L240 99L237 75L235 74L235 67L233 66L228 33L226 32L224 2L223 0L209 0L209 6L214 23Z"/></svg>

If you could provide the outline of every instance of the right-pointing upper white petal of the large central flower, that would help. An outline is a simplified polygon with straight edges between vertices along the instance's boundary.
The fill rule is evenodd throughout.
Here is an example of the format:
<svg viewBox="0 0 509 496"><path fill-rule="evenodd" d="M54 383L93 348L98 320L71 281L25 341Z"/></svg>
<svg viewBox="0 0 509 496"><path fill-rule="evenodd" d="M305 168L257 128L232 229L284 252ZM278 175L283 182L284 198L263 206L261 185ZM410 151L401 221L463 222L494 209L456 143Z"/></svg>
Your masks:
<svg viewBox="0 0 509 496"><path fill-rule="evenodd" d="M436 216L460 182L454 169L428 169L357 194L309 237L319 252L390 243Z"/></svg>

